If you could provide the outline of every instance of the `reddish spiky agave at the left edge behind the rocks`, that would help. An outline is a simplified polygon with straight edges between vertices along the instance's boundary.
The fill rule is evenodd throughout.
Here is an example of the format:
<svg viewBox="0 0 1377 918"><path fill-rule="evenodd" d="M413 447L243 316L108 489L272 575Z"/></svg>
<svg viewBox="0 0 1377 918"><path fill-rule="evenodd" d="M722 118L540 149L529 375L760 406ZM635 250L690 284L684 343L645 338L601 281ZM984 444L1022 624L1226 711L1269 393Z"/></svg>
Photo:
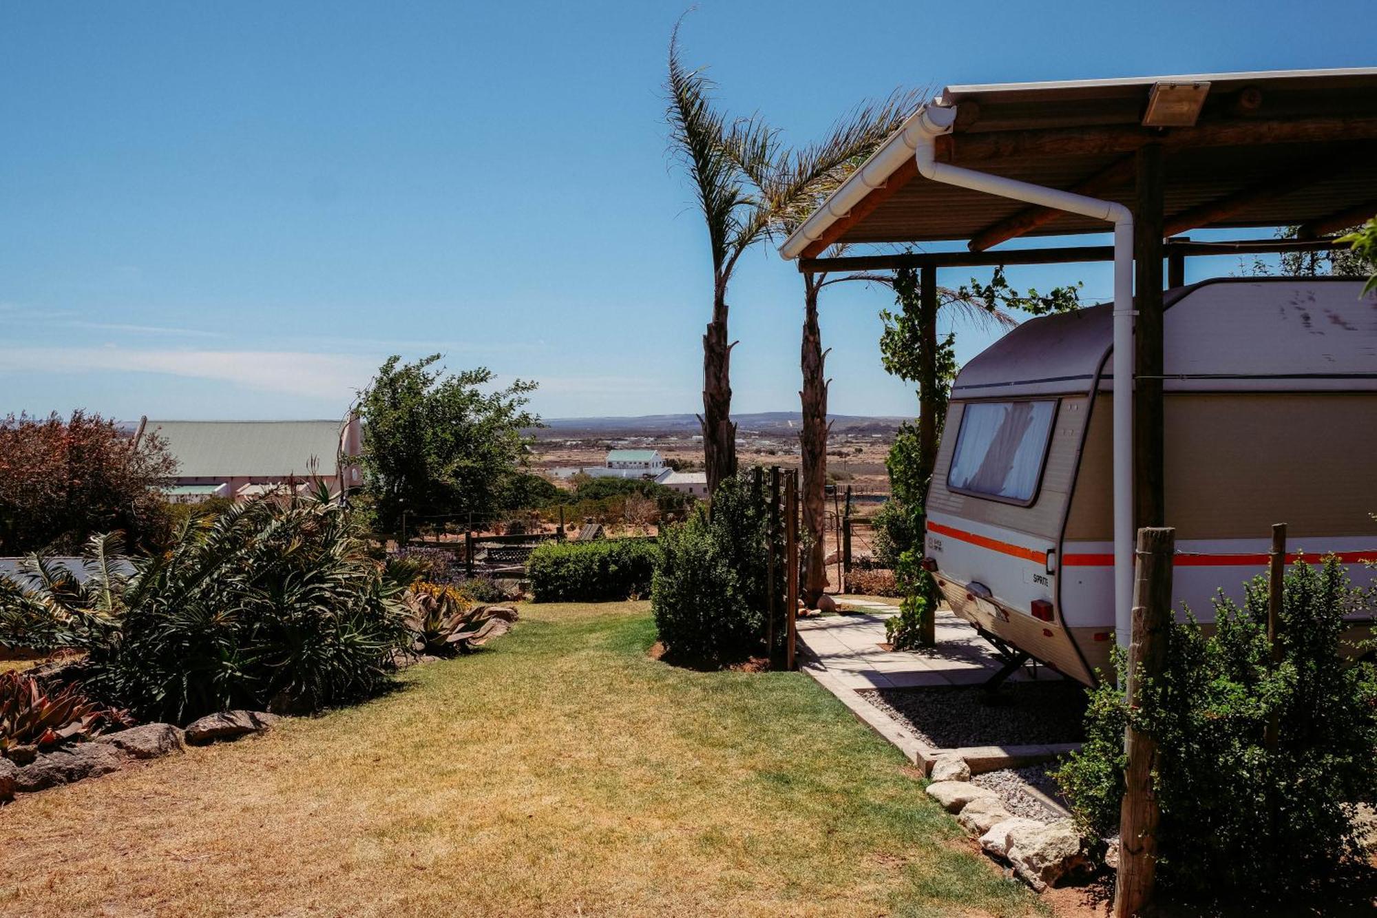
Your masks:
<svg viewBox="0 0 1377 918"><path fill-rule="evenodd" d="M129 724L124 711L103 707L74 686L44 692L37 680L0 673L0 755L22 746L50 748L90 739L106 726Z"/></svg>

